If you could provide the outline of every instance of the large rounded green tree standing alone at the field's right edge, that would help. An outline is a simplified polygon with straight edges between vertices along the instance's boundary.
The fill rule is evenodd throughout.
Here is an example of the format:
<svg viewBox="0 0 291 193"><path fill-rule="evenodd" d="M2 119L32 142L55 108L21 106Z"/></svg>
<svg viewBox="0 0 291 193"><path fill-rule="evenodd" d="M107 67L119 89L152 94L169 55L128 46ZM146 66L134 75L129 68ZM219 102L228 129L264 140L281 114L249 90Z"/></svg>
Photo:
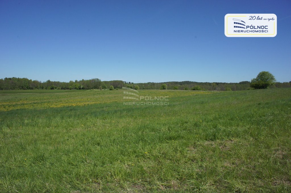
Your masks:
<svg viewBox="0 0 291 193"><path fill-rule="evenodd" d="M274 85L276 78L273 74L267 71L262 71L256 78L253 78L250 83L250 87L254 89L265 89L268 86Z"/></svg>

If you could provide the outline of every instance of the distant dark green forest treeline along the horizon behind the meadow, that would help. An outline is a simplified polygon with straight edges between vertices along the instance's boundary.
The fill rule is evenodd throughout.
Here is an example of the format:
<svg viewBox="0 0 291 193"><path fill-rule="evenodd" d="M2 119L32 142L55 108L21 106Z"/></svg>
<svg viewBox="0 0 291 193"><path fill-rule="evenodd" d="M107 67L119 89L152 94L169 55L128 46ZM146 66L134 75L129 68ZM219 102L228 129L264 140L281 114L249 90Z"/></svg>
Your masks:
<svg viewBox="0 0 291 193"><path fill-rule="evenodd" d="M250 89L249 81L242 81L239 83L202 83L193 81L182 81L182 82L164 82L164 83L133 83L126 81L101 81L99 78L93 78L90 80L70 81L70 82L59 82L59 81L37 81L28 78L4 78L0 79L0 90L32 90L32 89L62 89L62 90L73 90L73 89L107 89L109 86L113 86L114 89L120 89L122 87L135 88L136 85L139 89L160 89L162 84L166 84L167 89L170 90L191 90L195 86L199 86L202 90L248 90ZM277 82L272 85L271 88L291 87L290 82L280 83Z"/></svg>

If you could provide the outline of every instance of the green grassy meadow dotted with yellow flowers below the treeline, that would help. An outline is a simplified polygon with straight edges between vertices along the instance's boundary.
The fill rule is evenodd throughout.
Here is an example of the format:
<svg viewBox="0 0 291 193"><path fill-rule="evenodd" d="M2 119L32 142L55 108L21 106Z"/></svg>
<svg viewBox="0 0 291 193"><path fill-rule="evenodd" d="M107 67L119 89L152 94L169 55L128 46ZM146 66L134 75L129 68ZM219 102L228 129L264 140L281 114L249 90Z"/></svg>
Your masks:
<svg viewBox="0 0 291 193"><path fill-rule="evenodd" d="M0 192L290 192L291 89L0 91Z"/></svg>

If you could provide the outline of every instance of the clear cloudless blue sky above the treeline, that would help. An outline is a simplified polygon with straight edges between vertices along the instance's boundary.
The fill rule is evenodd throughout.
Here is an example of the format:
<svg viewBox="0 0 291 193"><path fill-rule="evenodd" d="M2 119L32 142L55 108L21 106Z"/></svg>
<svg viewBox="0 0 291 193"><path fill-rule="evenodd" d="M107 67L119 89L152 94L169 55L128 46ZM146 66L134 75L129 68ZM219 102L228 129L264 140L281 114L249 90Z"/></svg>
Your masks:
<svg viewBox="0 0 291 193"><path fill-rule="evenodd" d="M0 1L0 78L291 81L291 1ZM226 37L227 13L274 13L276 37Z"/></svg>

